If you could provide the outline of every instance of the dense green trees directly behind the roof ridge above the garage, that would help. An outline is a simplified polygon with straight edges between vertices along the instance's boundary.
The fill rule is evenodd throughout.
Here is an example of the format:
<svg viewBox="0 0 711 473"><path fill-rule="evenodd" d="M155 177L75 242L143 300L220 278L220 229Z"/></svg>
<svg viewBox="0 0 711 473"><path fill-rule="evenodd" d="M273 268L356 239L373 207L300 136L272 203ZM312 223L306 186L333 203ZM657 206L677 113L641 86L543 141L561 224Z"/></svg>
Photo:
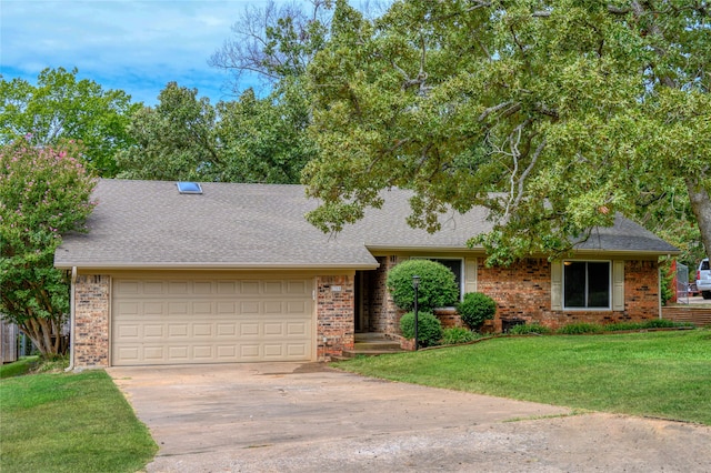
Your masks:
<svg viewBox="0 0 711 473"><path fill-rule="evenodd" d="M169 83L158 105L132 115L128 129L136 144L119 153L119 175L299 182L314 152L306 133L309 105L301 89L284 84L263 99L248 89L238 100L212 105L197 89Z"/></svg>

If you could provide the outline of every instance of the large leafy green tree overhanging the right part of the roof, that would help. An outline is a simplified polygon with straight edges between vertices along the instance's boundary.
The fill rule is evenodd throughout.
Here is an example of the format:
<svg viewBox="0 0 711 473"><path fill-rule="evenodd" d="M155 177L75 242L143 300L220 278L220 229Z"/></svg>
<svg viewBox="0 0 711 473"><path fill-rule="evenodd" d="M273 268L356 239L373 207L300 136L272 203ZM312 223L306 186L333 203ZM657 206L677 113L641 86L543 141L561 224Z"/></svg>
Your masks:
<svg viewBox="0 0 711 473"><path fill-rule="evenodd" d="M400 1L369 21L338 0L309 68L310 220L338 231L410 188L430 231L488 207L478 242L508 263L681 188L710 251L709 64L705 1Z"/></svg>

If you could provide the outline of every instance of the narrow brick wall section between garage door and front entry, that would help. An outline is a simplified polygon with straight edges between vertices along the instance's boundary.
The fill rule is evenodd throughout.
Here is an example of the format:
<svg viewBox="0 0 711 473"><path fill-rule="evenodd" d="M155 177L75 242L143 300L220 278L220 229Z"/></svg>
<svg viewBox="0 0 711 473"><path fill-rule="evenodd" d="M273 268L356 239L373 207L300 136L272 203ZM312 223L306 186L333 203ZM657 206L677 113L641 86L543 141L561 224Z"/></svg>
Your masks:
<svg viewBox="0 0 711 473"><path fill-rule="evenodd" d="M356 298L352 275L317 278L317 355L320 361L353 350ZM340 291L333 291L340 286Z"/></svg>

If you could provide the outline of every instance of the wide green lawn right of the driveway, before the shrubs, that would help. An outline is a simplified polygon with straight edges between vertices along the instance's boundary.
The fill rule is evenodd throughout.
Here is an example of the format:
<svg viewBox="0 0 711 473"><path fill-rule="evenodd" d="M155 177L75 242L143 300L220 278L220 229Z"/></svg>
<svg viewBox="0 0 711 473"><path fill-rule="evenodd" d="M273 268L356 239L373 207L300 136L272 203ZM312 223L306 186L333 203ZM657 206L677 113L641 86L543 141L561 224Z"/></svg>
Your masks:
<svg viewBox="0 0 711 473"><path fill-rule="evenodd" d="M711 425L711 331L498 338L356 359L375 378Z"/></svg>

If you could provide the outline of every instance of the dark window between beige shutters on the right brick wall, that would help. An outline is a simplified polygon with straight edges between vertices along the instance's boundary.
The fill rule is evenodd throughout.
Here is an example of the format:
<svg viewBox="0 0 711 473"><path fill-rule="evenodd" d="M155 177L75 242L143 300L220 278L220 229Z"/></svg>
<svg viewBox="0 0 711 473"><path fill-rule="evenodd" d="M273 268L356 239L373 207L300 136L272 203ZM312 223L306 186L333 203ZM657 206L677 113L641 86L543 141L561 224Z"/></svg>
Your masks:
<svg viewBox="0 0 711 473"><path fill-rule="evenodd" d="M563 305L567 309L610 309L610 262L565 261Z"/></svg>

